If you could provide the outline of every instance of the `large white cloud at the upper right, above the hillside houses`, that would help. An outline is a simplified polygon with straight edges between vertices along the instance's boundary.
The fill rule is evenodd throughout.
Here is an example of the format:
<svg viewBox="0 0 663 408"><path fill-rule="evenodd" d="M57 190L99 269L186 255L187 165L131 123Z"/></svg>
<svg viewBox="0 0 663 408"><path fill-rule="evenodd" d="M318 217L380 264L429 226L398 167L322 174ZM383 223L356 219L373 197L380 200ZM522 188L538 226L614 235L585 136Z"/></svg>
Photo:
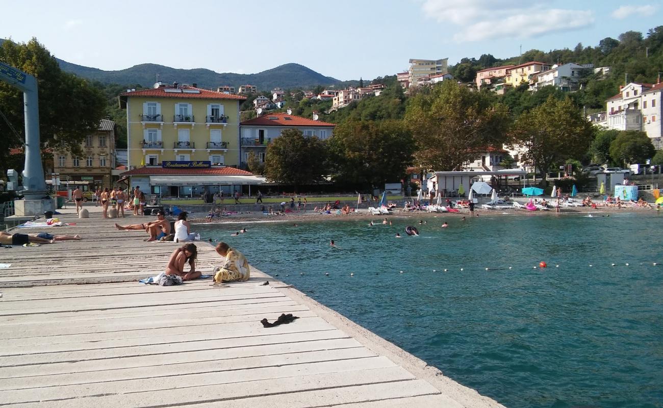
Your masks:
<svg viewBox="0 0 663 408"><path fill-rule="evenodd" d="M520 4L526 4L524 6ZM531 0L425 0L422 9L440 23L460 26L455 41L488 38L530 38L558 31L587 27L594 21L591 11L544 8L549 1Z"/></svg>

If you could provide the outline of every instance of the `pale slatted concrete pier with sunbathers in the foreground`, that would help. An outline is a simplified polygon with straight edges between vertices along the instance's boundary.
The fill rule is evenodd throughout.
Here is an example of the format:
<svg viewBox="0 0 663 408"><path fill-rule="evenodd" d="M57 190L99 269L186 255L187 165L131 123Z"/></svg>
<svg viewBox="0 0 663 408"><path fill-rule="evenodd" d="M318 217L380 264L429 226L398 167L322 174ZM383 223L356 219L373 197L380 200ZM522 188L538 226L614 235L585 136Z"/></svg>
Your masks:
<svg viewBox="0 0 663 408"><path fill-rule="evenodd" d="M261 271L221 287L141 285L180 244L86 208L86 220L58 216L75 225L13 231L82 241L0 248L0 405L502 407ZM211 272L218 255L196 244ZM300 318L263 328L281 313Z"/></svg>

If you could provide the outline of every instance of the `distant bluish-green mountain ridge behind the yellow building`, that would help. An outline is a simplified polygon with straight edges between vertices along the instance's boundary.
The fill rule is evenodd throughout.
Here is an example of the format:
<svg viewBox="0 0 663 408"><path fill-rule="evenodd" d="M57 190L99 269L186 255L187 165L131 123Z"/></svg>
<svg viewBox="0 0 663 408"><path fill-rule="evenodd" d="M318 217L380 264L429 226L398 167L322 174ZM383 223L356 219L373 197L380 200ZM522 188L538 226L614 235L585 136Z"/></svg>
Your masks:
<svg viewBox="0 0 663 408"><path fill-rule="evenodd" d="M5 41L0 38L0 44ZM179 84L198 84L200 88L216 89L218 86L229 85L235 88L240 85L255 85L259 91L269 91L278 86L280 88L307 88L316 85L334 85L339 80L324 76L314 70L300 64L284 64L258 72L257 74L234 74L224 72L219 74L206 68L195 68L192 70L182 70L170 68L158 64L139 64L117 71L104 71L99 68L91 68L72 64L65 60L56 58L60 68L66 72L71 72L82 78L102 82L103 84L141 84L149 88L156 82L156 76L164 84L178 82Z"/></svg>

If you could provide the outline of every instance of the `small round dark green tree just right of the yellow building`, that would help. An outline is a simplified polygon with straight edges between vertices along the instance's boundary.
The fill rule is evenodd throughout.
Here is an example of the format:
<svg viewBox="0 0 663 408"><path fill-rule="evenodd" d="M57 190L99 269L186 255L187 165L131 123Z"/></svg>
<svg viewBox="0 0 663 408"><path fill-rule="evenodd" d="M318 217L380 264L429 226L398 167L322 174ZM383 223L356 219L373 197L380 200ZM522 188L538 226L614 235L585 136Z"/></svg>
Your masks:
<svg viewBox="0 0 663 408"><path fill-rule="evenodd" d="M326 144L317 137L304 137L298 129L286 129L267 147L265 176L282 184L299 186L322 180L328 173Z"/></svg>

